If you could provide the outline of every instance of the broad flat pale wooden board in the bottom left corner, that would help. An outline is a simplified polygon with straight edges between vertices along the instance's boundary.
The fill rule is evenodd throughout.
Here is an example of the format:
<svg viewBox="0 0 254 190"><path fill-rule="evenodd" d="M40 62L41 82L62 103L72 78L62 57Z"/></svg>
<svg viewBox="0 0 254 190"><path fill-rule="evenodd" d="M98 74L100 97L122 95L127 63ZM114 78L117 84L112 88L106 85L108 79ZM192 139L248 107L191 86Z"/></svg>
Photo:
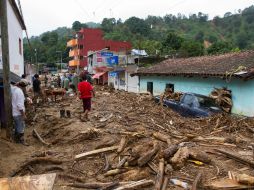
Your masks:
<svg viewBox="0 0 254 190"><path fill-rule="evenodd" d="M0 179L1 190L29 189L29 190L52 190L56 174L42 174Z"/></svg>

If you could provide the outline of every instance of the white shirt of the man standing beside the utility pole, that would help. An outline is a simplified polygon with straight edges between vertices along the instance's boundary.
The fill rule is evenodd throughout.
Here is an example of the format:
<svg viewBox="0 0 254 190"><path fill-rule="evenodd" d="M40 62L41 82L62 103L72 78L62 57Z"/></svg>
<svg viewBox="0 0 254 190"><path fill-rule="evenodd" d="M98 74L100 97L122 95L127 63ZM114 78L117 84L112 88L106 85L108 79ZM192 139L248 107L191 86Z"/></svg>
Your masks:
<svg viewBox="0 0 254 190"><path fill-rule="evenodd" d="M23 91L17 86L11 86L12 93L12 116L22 115L20 110L25 112L25 96Z"/></svg>

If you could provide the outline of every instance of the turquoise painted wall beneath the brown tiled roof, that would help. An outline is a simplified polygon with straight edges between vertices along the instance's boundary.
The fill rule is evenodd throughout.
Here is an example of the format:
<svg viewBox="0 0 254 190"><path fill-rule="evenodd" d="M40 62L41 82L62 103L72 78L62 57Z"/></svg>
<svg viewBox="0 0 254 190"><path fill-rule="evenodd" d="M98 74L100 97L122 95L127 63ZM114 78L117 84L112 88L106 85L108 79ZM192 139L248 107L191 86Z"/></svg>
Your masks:
<svg viewBox="0 0 254 190"><path fill-rule="evenodd" d="M216 88L232 90L232 113L254 117L254 80L232 79L229 83L220 78L181 77L181 76L140 76L140 92L147 92L147 82L153 82L153 93L164 92L166 84L174 84L175 91L209 95Z"/></svg>

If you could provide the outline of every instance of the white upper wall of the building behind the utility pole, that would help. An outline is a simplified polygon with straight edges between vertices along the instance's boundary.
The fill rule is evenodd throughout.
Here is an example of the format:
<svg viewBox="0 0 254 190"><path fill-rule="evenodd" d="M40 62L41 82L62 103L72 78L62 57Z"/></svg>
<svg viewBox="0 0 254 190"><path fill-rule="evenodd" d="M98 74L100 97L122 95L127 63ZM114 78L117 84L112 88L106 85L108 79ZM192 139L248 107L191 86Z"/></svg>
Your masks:
<svg viewBox="0 0 254 190"><path fill-rule="evenodd" d="M21 76L22 74L24 74L23 30L9 1L7 1L7 17L9 33L10 70L11 72ZM21 54L19 53L19 39L21 40ZM2 51L0 48L0 57L1 56ZM0 69L2 68L3 64L2 61L0 61Z"/></svg>

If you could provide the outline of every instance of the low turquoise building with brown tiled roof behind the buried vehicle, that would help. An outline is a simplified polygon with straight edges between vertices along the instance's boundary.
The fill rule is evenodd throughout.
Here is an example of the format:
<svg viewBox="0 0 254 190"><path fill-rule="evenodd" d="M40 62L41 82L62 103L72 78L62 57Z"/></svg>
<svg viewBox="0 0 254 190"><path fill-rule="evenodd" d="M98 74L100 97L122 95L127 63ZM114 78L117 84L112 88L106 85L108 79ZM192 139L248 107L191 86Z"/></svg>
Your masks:
<svg viewBox="0 0 254 190"><path fill-rule="evenodd" d="M154 95L166 86L208 96L214 88L232 91L232 113L254 117L254 51L218 56L168 59L139 69L139 91Z"/></svg>

